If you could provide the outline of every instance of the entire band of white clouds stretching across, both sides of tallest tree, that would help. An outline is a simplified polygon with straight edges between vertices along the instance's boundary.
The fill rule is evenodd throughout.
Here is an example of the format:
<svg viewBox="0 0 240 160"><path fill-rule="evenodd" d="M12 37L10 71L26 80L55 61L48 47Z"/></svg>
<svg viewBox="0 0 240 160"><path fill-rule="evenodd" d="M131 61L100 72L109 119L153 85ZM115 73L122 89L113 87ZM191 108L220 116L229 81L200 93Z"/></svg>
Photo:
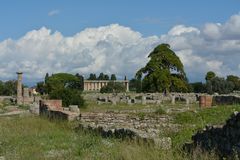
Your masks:
<svg viewBox="0 0 240 160"><path fill-rule="evenodd" d="M15 78L23 71L32 81L48 73L116 73L133 77L160 43L169 43L184 63L190 81L203 80L207 71L220 76L239 75L240 15L225 23L203 28L177 25L160 36L141 33L118 24L87 28L66 37L42 27L23 37L0 42L0 79Z"/></svg>

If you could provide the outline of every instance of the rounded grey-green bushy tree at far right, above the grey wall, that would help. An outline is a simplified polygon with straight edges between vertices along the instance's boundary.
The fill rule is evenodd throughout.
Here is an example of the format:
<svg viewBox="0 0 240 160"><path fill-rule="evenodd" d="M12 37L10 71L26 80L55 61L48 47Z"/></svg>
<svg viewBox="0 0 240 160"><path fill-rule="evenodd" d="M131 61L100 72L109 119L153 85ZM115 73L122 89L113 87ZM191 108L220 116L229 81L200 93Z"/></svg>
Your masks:
<svg viewBox="0 0 240 160"><path fill-rule="evenodd" d="M208 94L219 93L228 94L234 89L232 82L226 81L224 78L215 77L208 80L206 83L206 90Z"/></svg>

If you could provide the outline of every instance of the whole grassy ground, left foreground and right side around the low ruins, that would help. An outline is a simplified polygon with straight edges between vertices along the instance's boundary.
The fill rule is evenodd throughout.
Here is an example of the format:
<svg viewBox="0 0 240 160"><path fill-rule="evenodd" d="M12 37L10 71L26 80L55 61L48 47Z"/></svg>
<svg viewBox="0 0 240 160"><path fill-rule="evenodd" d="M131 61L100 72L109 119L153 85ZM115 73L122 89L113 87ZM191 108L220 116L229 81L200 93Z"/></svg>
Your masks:
<svg viewBox="0 0 240 160"><path fill-rule="evenodd" d="M240 111L240 106L195 108L169 114L173 117L172 123L182 127L177 133L164 132L163 136L171 137L173 142L172 149L167 151L146 143L106 139L92 133L76 131L76 123L49 121L35 116L0 117L0 157L13 160L216 159L214 153L202 153L200 150L196 150L191 156L186 155L181 150L182 145L191 141L191 136L205 125L223 124L234 111Z"/></svg>

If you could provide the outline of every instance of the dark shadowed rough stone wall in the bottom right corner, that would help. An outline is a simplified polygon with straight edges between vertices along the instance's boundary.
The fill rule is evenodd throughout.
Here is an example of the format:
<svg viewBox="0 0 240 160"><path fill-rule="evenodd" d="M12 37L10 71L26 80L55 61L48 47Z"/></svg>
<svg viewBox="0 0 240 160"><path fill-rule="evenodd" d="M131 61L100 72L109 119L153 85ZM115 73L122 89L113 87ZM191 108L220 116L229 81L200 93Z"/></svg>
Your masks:
<svg viewBox="0 0 240 160"><path fill-rule="evenodd" d="M194 148L211 152L216 151L220 157L240 156L240 113L235 112L223 126L207 126L192 137L193 143L185 144L184 148Z"/></svg>

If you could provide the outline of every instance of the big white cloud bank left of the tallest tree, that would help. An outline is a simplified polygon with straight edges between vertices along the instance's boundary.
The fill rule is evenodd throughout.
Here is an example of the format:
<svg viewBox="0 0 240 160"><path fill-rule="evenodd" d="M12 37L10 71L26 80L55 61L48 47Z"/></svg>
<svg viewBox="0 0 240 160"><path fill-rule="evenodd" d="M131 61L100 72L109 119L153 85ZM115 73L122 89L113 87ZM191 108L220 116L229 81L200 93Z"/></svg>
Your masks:
<svg viewBox="0 0 240 160"><path fill-rule="evenodd" d="M143 38L118 24L88 28L71 37L42 27L18 40L0 43L0 78L15 77L15 71L23 71L32 80L43 78L47 72L133 75L158 43L156 36Z"/></svg>

